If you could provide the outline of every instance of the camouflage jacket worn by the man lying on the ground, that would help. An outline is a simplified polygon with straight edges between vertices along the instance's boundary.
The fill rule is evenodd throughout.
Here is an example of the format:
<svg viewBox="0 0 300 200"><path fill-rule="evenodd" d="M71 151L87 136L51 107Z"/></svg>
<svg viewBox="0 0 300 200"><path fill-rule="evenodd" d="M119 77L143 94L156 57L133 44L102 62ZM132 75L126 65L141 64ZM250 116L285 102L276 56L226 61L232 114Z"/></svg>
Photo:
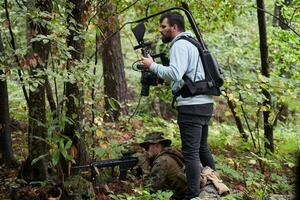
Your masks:
<svg viewBox="0 0 300 200"><path fill-rule="evenodd" d="M150 172L144 175L144 185L153 191L169 189L174 193L173 198L182 199L187 185L182 154L166 147L152 162Z"/></svg>

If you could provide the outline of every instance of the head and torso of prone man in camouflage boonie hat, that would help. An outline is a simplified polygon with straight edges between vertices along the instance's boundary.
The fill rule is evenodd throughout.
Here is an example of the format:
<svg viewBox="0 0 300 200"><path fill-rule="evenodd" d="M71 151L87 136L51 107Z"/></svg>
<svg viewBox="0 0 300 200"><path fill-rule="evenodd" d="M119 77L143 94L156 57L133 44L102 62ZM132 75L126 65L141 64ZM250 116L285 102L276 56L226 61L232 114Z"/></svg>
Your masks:
<svg viewBox="0 0 300 200"><path fill-rule="evenodd" d="M174 199L182 199L186 190L184 159L182 154L170 147L171 140L160 132L149 133L140 146L145 148L150 170L143 175L143 183L151 190L171 190Z"/></svg>

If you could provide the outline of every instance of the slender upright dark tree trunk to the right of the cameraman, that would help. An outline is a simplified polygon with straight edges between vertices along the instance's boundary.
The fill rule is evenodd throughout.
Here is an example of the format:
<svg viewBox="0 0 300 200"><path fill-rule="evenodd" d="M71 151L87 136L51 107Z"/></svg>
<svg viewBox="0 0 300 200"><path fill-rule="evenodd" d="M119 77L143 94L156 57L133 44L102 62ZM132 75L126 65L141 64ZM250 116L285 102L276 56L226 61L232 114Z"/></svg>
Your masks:
<svg viewBox="0 0 300 200"><path fill-rule="evenodd" d="M258 18L258 27L259 27L259 38L260 38L260 57L261 57L261 73L263 76L270 77L269 73L269 62L268 62L268 45L267 45L267 30L266 30L266 20L265 20L265 4L263 0L256 0L257 3L257 18ZM272 107L271 94L268 90L262 88L262 93L265 96L266 100L263 102L263 105L267 108L266 111L263 111L264 119L264 135L266 138L265 148L269 149L271 152L274 152L274 140L273 140L273 126L269 122L270 109Z"/></svg>

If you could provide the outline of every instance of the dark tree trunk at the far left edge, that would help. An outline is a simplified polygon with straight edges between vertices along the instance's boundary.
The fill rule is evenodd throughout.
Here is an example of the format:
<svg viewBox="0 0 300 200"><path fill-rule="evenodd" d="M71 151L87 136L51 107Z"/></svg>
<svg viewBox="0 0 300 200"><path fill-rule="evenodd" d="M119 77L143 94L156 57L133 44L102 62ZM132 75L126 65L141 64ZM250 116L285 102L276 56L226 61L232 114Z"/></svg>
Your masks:
<svg viewBox="0 0 300 200"><path fill-rule="evenodd" d="M0 32L0 59L3 56L3 43ZM0 70L0 76L5 74ZM9 104L6 79L0 78L0 162L4 162L9 167L16 166L16 160L13 154L11 143L11 129L9 118Z"/></svg>

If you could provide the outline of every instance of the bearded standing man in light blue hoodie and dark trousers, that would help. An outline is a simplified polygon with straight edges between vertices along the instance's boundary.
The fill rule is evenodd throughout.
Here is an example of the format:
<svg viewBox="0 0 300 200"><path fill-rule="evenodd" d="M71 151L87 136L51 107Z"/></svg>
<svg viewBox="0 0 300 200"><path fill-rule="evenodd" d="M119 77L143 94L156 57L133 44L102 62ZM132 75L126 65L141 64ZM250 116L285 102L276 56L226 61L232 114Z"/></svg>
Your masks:
<svg viewBox="0 0 300 200"><path fill-rule="evenodd" d="M184 85L183 76L194 81L205 79L198 49L187 40L179 37L192 37L185 31L184 19L178 12L168 12L160 18L160 33L164 43L171 42L170 66L157 64L153 59L142 57L146 69L160 78L173 81L172 93L178 92ZM208 122L213 113L213 99L207 95L176 98L178 125L182 141L182 153L185 159L188 190L184 199L192 199L200 194L200 161L202 165L215 170L213 157L208 149Z"/></svg>

